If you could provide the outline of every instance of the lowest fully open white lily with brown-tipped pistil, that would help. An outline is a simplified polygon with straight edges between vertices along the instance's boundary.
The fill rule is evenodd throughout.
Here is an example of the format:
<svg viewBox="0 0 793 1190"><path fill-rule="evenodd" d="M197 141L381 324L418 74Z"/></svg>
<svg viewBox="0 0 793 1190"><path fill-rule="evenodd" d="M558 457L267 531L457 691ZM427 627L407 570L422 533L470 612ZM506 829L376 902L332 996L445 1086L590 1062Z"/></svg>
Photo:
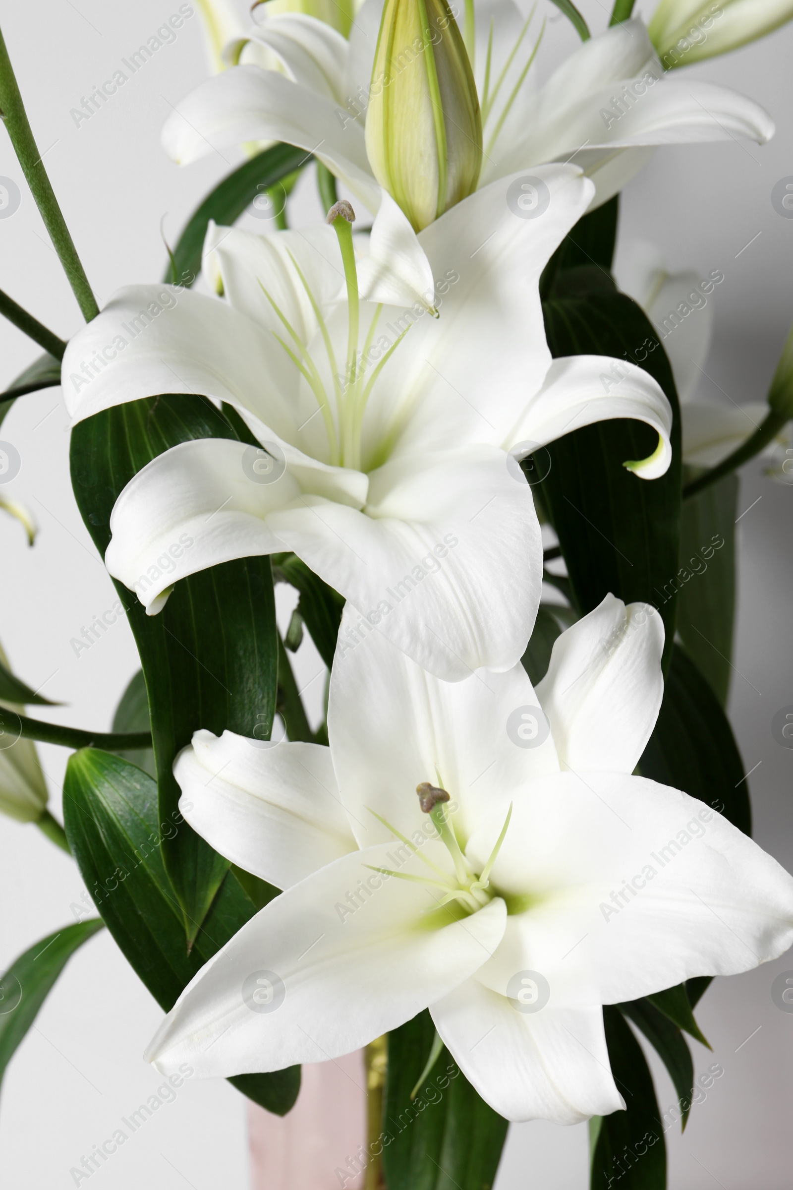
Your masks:
<svg viewBox="0 0 793 1190"><path fill-rule="evenodd" d="M204 1077L327 1061L429 1007L506 1119L624 1107L603 1004L793 940L787 872L631 776L662 646L652 607L609 595L535 690L520 665L439 682L373 633L336 652L329 749L197 732L175 765L185 818L285 891L191 981L147 1058Z"/></svg>

